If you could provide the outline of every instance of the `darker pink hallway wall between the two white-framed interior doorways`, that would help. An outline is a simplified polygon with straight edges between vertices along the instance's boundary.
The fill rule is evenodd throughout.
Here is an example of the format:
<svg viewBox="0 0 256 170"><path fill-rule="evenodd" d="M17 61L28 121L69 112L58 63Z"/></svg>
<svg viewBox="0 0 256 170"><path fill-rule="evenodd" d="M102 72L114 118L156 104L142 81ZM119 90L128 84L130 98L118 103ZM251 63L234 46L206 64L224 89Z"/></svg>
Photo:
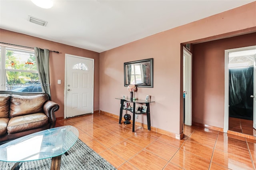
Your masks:
<svg viewBox="0 0 256 170"><path fill-rule="evenodd" d="M193 122L224 127L224 50L252 45L256 45L256 33L194 45Z"/></svg>

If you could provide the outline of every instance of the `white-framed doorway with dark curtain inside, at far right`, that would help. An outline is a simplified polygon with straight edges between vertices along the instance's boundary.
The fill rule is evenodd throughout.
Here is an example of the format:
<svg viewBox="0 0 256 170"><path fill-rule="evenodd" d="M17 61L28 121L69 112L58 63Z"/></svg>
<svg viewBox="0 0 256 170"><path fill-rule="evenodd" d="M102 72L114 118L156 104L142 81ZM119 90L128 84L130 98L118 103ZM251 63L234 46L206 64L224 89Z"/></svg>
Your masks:
<svg viewBox="0 0 256 170"><path fill-rule="evenodd" d="M256 136L255 58L256 46L225 50L224 132Z"/></svg>

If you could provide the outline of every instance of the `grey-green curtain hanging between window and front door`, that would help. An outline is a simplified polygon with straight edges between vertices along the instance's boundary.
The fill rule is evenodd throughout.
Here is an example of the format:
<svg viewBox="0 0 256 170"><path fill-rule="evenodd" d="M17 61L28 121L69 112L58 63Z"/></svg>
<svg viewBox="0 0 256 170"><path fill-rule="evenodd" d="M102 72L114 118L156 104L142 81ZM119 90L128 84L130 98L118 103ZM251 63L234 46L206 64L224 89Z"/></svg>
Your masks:
<svg viewBox="0 0 256 170"><path fill-rule="evenodd" d="M47 93L49 95L49 99L51 100L49 75L49 49L40 49L38 47L34 47L34 51L38 75L40 82L42 84L42 90L44 91L44 93Z"/></svg>

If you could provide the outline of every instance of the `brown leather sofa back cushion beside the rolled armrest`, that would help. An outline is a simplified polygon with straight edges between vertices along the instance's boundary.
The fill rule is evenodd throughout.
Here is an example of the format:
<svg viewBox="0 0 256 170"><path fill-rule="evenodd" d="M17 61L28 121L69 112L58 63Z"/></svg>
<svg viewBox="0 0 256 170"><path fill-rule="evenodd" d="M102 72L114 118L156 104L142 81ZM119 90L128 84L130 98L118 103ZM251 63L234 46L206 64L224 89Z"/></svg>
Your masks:
<svg viewBox="0 0 256 170"><path fill-rule="evenodd" d="M12 95L10 117L43 112L43 105L48 100L46 94L35 96Z"/></svg>

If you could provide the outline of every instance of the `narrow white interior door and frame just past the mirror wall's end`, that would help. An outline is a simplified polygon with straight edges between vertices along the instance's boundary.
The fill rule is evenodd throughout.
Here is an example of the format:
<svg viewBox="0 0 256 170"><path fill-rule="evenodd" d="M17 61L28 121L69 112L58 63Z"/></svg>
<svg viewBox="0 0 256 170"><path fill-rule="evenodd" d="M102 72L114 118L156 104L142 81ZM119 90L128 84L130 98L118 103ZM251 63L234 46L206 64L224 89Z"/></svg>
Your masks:
<svg viewBox="0 0 256 170"><path fill-rule="evenodd" d="M183 48L184 84L185 84L185 125L192 126L192 53Z"/></svg>

